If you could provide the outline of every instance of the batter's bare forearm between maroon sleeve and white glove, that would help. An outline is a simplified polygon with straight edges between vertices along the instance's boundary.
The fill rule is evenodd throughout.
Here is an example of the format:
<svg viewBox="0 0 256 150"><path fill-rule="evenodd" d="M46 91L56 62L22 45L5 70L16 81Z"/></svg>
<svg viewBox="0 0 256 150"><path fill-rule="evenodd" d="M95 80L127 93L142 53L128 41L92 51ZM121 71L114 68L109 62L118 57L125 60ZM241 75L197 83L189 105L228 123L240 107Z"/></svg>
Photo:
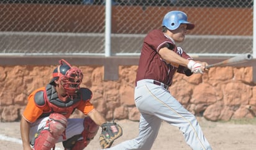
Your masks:
<svg viewBox="0 0 256 150"><path fill-rule="evenodd" d="M163 47L163 48L159 49L158 54L160 54L162 59L168 63L175 63L178 65L187 67L188 62L189 62L188 59L185 59L185 58L179 56L178 54L176 54L176 52L171 51L167 47Z"/></svg>

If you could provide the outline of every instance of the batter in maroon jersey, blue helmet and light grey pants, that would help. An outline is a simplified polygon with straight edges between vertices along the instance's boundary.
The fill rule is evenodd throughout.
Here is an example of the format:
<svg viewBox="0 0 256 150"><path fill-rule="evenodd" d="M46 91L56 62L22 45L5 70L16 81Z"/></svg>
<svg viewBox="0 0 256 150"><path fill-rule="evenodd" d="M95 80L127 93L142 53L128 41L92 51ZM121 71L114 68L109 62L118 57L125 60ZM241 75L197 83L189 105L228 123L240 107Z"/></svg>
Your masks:
<svg viewBox="0 0 256 150"><path fill-rule="evenodd" d="M139 135L110 149L151 149L162 120L178 127L191 149L212 149L194 115L168 91L176 72L190 76L203 73L208 65L194 61L176 46L185 40L186 31L193 28L184 12L174 10L163 18L162 31L152 30L145 37L134 94L140 111Z"/></svg>

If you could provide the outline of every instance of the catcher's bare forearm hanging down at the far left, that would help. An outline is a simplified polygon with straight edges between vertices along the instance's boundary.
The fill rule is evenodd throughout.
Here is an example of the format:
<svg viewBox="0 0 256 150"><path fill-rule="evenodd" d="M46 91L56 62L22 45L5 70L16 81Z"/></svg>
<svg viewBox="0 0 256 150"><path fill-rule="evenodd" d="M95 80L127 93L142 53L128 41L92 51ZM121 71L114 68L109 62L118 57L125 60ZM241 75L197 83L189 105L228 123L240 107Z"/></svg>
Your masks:
<svg viewBox="0 0 256 150"><path fill-rule="evenodd" d="M21 117L21 139L22 139L22 145L24 150L31 150L30 147L30 141L29 141L29 131L30 131L30 123L27 122L27 120L24 119L24 117Z"/></svg>

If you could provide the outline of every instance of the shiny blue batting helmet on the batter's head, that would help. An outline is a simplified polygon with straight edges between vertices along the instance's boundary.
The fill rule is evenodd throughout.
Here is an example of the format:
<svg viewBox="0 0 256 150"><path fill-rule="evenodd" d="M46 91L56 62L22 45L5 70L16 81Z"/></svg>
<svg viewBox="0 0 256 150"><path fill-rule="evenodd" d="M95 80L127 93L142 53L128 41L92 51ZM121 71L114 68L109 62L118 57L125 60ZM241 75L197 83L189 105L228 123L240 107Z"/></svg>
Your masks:
<svg viewBox="0 0 256 150"><path fill-rule="evenodd" d="M188 22L188 17L184 12L179 10L173 10L168 12L165 17L163 17L162 26L167 27L169 30L175 30L176 28L180 27L180 24L186 24L187 30L192 30L194 28L194 24Z"/></svg>

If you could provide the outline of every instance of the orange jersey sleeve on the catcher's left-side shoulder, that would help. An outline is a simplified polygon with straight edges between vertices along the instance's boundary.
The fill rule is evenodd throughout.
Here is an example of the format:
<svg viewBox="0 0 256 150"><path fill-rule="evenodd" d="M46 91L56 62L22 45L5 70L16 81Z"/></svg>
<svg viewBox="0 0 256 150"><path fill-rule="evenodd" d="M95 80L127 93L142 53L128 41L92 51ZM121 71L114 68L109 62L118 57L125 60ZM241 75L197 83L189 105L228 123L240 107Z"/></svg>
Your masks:
<svg viewBox="0 0 256 150"><path fill-rule="evenodd" d="M25 120L27 120L30 123L35 122L35 120L37 120L40 117L40 115L43 113L43 108L39 108L35 104L35 93L43 89L44 88L35 90L33 93L29 95L27 106L25 107L23 112L23 117Z"/></svg>

